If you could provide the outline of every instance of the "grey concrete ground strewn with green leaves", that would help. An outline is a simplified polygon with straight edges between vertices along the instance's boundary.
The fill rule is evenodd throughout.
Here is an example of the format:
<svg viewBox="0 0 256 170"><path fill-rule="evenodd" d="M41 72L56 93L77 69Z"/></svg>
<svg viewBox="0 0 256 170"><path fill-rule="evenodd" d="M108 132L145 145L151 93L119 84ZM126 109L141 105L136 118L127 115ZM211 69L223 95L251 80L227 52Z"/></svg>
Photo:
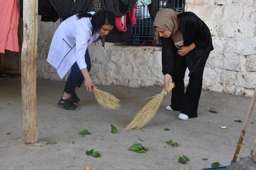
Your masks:
<svg viewBox="0 0 256 170"><path fill-rule="evenodd" d="M243 123L234 120L245 120L251 101L249 97L202 91L198 117L182 121L177 119L179 112L165 110L171 101L171 95L167 95L156 116L144 128L123 131L150 101L145 98L158 94L160 86L99 85L98 89L121 99L122 107L114 111L98 105L94 94L82 87L77 90L82 100L77 104L79 110L68 111L57 106L65 82L37 79L38 136L41 141L57 142L40 147L17 142L23 137L20 84L20 77L0 80L0 170L85 170L84 166L90 166L91 170L201 170L210 168L214 162L229 165L243 127ZM219 113L208 112L210 108ZM248 126L239 157L250 154L256 138L256 108L250 122L255 124ZM110 133L110 124L118 133ZM91 134L80 136L78 132L84 129ZM178 142L178 147L165 143L169 140ZM143 144L148 151L137 154L128 150L135 143ZM91 149L101 156L86 155ZM179 163L179 155L187 156L190 161L186 165Z"/></svg>

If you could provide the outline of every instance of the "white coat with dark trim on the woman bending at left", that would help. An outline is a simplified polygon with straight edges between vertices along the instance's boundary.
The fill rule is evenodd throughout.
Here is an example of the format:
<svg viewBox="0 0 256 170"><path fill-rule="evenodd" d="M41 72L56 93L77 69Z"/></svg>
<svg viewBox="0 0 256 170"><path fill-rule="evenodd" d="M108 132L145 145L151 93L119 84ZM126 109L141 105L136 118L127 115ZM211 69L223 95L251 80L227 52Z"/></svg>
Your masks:
<svg viewBox="0 0 256 170"><path fill-rule="evenodd" d="M63 21L54 33L47 61L57 69L61 79L75 62L80 69L87 68L86 49L98 36L98 32L92 36L91 18L83 17L78 20L73 15Z"/></svg>

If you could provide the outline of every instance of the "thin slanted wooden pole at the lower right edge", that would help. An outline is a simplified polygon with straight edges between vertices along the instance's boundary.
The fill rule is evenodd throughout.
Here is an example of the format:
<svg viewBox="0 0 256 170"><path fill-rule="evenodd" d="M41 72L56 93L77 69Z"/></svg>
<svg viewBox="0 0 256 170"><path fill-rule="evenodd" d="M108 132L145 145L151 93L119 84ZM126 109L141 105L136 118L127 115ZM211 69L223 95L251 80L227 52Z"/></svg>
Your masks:
<svg viewBox="0 0 256 170"><path fill-rule="evenodd" d="M235 152L233 160L232 160L233 163L236 162L237 157L239 155L239 152L240 152L240 149L241 149L241 146L242 146L242 143L243 143L243 138L245 137L245 132L246 132L247 126L249 124L249 119L250 119L250 116L252 115L252 109L254 107L255 101L256 101L256 87L254 89L254 93L253 93L253 96L252 96L252 101L250 102L250 107L249 107L245 122L243 124L243 129L242 129L241 135L239 137L239 141L238 141L237 146L236 146L236 152Z"/></svg>

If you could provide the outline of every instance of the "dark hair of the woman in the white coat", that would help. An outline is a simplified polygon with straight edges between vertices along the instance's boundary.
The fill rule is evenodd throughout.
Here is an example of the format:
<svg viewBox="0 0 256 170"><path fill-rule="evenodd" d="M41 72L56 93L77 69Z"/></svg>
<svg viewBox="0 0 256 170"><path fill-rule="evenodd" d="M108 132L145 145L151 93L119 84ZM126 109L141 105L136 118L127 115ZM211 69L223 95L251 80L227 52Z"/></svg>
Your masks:
<svg viewBox="0 0 256 170"><path fill-rule="evenodd" d="M94 15L91 15L86 11L78 11L76 16L78 17L78 20L83 17L91 18L93 33L98 31L103 25L115 26L115 16L110 11L98 11Z"/></svg>

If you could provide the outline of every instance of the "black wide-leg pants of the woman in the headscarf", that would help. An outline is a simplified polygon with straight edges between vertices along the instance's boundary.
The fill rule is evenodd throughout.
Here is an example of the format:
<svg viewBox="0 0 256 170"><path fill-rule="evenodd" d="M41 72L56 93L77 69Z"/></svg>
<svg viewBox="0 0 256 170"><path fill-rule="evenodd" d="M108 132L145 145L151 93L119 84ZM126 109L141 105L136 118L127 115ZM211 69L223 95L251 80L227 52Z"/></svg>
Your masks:
<svg viewBox="0 0 256 170"><path fill-rule="evenodd" d="M205 65L205 63L204 63ZM187 69L185 57L182 59L177 75L173 78L175 87L172 90L171 108L188 117L197 117L198 103L202 90L204 68L189 75L189 84L185 93L184 77Z"/></svg>

